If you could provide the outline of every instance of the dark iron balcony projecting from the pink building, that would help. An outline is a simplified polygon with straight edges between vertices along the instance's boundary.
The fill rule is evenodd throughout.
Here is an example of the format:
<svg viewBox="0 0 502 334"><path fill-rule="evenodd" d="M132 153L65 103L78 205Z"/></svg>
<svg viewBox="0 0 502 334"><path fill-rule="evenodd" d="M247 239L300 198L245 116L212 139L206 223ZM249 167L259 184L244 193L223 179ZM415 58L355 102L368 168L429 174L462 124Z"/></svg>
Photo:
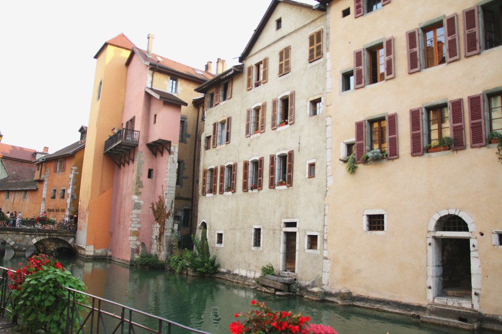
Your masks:
<svg viewBox="0 0 502 334"><path fill-rule="evenodd" d="M104 142L104 153L120 168L120 165L125 166L126 163L129 165L129 162L134 162L136 146L139 143L139 131L121 129Z"/></svg>

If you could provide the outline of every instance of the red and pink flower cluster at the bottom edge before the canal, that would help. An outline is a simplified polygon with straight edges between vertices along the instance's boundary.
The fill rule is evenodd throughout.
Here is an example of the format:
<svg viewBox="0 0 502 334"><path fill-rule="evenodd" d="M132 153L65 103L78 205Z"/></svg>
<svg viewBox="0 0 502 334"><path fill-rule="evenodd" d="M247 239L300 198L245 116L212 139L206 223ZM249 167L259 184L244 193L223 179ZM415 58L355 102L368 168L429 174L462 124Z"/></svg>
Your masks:
<svg viewBox="0 0 502 334"><path fill-rule="evenodd" d="M274 312L264 302L257 303L256 300L251 301L251 305L260 307L260 310L249 311L248 313L235 313L235 317L244 316L246 319L242 323L238 320L230 323L229 327L232 334L249 334L255 332L336 334L330 326L309 324L310 317L302 316L300 313Z"/></svg>

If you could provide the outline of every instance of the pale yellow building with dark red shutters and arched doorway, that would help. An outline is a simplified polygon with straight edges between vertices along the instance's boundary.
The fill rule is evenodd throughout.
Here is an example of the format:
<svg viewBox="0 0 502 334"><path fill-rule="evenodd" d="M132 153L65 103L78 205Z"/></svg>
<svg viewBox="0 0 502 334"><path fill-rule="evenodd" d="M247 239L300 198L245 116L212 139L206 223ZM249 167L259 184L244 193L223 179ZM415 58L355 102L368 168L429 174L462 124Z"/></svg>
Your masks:
<svg viewBox="0 0 502 334"><path fill-rule="evenodd" d="M502 328L502 2L321 3L332 160L357 162L330 168L324 289Z"/></svg>

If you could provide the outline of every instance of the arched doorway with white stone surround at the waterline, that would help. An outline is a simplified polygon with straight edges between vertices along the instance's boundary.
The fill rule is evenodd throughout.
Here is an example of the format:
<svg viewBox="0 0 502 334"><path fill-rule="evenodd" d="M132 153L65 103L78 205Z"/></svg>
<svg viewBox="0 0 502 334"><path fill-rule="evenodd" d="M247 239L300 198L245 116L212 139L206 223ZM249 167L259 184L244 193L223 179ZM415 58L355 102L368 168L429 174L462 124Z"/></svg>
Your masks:
<svg viewBox="0 0 502 334"><path fill-rule="evenodd" d="M459 210L442 210L429 221L429 302L479 309L481 267L474 230L474 221Z"/></svg>

